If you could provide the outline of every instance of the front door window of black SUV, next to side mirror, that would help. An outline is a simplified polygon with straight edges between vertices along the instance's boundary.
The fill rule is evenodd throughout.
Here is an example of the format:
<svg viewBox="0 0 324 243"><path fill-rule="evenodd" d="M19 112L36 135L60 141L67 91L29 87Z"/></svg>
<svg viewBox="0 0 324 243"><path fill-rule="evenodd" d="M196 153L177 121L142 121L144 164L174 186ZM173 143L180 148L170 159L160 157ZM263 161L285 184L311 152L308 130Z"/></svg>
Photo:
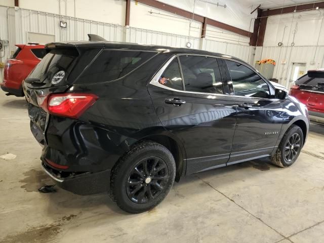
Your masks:
<svg viewBox="0 0 324 243"><path fill-rule="evenodd" d="M268 98L267 83L251 68L240 63L226 60L231 74L235 95Z"/></svg>

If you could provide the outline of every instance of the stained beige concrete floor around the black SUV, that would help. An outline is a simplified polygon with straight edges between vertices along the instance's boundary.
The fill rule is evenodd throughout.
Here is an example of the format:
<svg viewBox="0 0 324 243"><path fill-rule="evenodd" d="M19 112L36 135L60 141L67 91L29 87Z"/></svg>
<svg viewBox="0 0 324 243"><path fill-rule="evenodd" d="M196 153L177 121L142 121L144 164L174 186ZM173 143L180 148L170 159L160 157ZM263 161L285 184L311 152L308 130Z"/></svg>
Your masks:
<svg viewBox="0 0 324 243"><path fill-rule="evenodd" d="M106 194L78 196L41 169L24 98L0 92L0 242L321 242L324 126L312 125L297 162L254 160L184 178L150 212L131 215Z"/></svg>

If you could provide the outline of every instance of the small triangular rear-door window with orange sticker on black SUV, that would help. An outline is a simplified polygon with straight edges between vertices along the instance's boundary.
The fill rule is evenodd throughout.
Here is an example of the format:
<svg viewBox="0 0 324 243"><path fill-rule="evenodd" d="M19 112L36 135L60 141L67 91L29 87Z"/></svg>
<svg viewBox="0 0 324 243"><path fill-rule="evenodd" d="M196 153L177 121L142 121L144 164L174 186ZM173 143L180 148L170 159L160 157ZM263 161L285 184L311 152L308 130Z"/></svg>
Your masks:
<svg viewBox="0 0 324 243"><path fill-rule="evenodd" d="M182 78L177 58L173 59L163 74L159 77L158 83L172 89L183 90Z"/></svg>

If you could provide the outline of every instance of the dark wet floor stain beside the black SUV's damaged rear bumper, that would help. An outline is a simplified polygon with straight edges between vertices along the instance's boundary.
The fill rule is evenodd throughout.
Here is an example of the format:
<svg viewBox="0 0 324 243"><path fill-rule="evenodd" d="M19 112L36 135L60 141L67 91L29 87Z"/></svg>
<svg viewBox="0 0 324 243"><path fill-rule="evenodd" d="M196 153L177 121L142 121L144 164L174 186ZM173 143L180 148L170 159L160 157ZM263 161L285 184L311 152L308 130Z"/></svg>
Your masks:
<svg viewBox="0 0 324 243"><path fill-rule="evenodd" d="M30 170L23 174L25 178L19 182L24 183L20 188L25 189L27 192L38 191L38 188L44 186L45 182L51 182L51 179L45 172L39 170Z"/></svg>

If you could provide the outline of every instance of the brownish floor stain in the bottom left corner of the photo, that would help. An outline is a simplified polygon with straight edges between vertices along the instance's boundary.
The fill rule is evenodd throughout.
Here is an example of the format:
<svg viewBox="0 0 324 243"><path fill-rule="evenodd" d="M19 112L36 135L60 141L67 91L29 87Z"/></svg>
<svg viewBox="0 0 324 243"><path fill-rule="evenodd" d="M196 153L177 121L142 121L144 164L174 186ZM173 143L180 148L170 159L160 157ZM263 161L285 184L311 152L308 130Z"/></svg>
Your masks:
<svg viewBox="0 0 324 243"><path fill-rule="evenodd" d="M25 243L25 242L49 242L56 235L63 231L62 226L67 223L67 221L75 218L76 215L65 216L57 221L54 221L48 225L36 226L27 229L24 232L8 235L2 242L9 243Z"/></svg>

